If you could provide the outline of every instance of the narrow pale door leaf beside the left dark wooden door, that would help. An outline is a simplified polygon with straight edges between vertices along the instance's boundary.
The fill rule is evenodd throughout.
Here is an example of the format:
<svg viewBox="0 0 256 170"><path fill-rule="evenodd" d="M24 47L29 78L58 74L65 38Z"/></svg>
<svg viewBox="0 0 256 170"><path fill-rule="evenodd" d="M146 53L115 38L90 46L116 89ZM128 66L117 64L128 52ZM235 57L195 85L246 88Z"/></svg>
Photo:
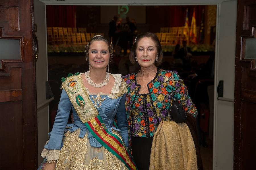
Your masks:
<svg viewBox="0 0 256 170"><path fill-rule="evenodd" d="M36 61L36 95L37 106L46 101L45 82L48 80L47 70L47 51L46 51L46 18L44 3L34 0L34 23L37 25L36 36L38 39L38 60ZM37 111L37 129L38 129L38 165L43 158L40 156L49 131L49 109L48 104Z"/></svg>

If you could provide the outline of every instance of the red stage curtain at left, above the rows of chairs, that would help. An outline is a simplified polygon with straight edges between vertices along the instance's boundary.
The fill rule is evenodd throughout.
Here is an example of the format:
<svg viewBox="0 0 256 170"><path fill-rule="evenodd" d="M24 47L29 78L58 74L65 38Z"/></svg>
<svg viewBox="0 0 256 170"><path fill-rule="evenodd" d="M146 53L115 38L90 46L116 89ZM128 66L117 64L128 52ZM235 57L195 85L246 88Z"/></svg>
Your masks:
<svg viewBox="0 0 256 170"><path fill-rule="evenodd" d="M75 6L46 5L47 27L75 27Z"/></svg>

